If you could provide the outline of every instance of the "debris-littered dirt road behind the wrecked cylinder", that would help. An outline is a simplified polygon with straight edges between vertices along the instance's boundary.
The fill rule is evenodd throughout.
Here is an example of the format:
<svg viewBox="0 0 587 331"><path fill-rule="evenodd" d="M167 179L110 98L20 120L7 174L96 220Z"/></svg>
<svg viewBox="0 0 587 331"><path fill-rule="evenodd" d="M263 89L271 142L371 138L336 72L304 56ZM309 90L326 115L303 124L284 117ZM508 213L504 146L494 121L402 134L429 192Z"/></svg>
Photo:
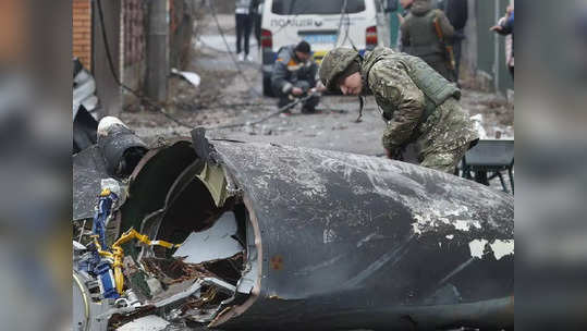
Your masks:
<svg viewBox="0 0 587 331"><path fill-rule="evenodd" d="M198 87L173 75L169 81L169 100L166 112L185 124L180 125L158 111L132 105L121 119L147 142L159 136L189 136L196 126L209 127L211 137L246 142L266 142L299 145L322 149L382 155L380 137L384 122L372 97L367 97L363 121L356 97L323 96L316 114L301 114L299 106L291 115L279 115L257 125L233 128L211 127L232 123L247 123L261 119L277 109L277 99L262 97L259 53L250 37L253 62L236 62L234 54L234 16L218 15L219 33L213 16L205 15L197 22L193 41L192 61L183 70L201 77ZM231 49L228 52L227 46ZM496 135L513 138L513 107L505 98L490 93L463 89L462 105L470 115L482 115L482 127L489 138Z"/></svg>

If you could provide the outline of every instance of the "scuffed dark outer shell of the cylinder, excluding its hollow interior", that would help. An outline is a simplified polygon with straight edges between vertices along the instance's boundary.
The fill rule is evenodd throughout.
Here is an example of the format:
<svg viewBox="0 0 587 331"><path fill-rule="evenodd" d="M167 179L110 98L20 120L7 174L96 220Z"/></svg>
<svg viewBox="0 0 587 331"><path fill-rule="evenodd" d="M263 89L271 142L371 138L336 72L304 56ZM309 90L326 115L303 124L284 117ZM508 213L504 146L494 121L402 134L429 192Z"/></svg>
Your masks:
<svg viewBox="0 0 587 331"><path fill-rule="evenodd" d="M212 326L513 322L511 196L381 158L225 140L194 145L217 154L260 229L260 295Z"/></svg>

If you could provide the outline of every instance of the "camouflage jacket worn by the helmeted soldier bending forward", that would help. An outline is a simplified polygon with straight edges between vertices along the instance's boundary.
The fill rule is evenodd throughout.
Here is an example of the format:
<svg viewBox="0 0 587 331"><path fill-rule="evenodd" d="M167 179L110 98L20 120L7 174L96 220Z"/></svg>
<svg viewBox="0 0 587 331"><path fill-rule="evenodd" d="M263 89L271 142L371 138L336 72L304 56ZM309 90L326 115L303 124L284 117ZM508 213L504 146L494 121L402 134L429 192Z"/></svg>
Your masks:
<svg viewBox="0 0 587 331"><path fill-rule="evenodd" d="M414 82L421 66L424 81L429 76L440 94L427 95L418 87L430 82ZM462 147L478 138L467 111L458 103L460 90L436 72L428 74L427 69L420 59L388 48L376 48L362 63L365 87L389 120L382 143L392 154L413 142L420 154L427 154Z"/></svg>

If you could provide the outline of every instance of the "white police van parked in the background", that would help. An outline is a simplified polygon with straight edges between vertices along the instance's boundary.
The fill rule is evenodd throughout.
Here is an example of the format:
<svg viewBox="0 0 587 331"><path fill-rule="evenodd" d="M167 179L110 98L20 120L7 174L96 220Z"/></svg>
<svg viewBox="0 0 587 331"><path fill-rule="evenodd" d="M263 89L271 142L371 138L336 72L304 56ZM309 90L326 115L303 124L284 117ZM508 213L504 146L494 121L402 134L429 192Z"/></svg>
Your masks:
<svg viewBox="0 0 587 331"><path fill-rule="evenodd" d="M271 71L281 47L306 40L320 63L334 47L360 53L390 45L393 0L265 0L260 52L264 94L272 95Z"/></svg>

